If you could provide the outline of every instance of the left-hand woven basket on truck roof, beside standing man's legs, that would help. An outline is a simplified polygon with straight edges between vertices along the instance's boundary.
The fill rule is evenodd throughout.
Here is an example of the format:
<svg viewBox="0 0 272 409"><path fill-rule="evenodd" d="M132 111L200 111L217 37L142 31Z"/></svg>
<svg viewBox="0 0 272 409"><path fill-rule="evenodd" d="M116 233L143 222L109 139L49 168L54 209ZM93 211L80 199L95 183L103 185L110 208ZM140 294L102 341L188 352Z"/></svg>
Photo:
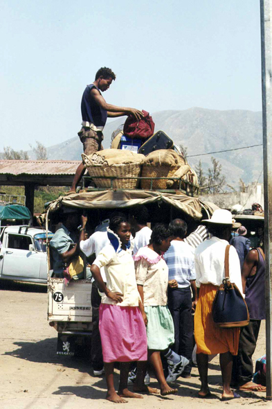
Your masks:
<svg viewBox="0 0 272 409"><path fill-rule="evenodd" d="M140 163L118 164L118 165L93 165L88 157L82 155L84 164L87 166L89 175L98 187L111 187L110 179L97 179L96 176L118 176L118 177L138 177L140 176ZM114 189L136 189L138 179L116 179Z"/></svg>

